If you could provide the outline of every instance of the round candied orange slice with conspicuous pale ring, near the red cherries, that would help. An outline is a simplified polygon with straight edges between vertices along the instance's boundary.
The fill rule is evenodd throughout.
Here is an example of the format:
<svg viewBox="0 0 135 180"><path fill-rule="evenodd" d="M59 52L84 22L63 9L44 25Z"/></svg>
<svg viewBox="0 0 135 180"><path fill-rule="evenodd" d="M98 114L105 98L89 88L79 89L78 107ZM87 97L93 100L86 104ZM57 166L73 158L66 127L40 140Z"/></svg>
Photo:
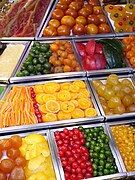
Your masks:
<svg viewBox="0 0 135 180"><path fill-rule="evenodd" d="M60 104L55 100L49 100L46 102L46 109L49 112L57 113L60 110Z"/></svg>

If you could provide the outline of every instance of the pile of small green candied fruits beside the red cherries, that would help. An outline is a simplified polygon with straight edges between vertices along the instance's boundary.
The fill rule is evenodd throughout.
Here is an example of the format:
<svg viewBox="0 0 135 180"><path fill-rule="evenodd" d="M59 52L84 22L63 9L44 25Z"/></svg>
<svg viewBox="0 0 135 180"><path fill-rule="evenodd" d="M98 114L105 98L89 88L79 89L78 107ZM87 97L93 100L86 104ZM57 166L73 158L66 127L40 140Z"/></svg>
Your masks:
<svg viewBox="0 0 135 180"><path fill-rule="evenodd" d="M109 146L109 138L104 132L104 128L92 127L78 129L84 134L85 146L89 150L90 161L93 167L93 176L103 176L118 172L115 158Z"/></svg>

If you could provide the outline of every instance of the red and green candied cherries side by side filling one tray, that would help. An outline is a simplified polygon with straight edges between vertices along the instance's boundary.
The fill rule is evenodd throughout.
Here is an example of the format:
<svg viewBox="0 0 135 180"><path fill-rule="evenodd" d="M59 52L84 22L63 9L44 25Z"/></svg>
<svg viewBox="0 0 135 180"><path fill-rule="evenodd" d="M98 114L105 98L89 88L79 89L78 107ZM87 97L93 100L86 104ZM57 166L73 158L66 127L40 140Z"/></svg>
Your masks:
<svg viewBox="0 0 135 180"><path fill-rule="evenodd" d="M64 128L54 134L65 180L118 173L109 138L102 126Z"/></svg>

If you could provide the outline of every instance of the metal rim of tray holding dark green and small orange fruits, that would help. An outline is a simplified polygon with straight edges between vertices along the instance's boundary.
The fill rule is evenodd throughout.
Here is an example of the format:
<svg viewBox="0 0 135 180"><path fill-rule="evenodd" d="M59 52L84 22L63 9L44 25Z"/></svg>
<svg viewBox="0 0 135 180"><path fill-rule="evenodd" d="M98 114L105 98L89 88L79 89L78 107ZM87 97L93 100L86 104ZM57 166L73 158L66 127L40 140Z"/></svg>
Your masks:
<svg viewBox="0 0 135 180"><path fill-rule="evenodd" d="M54 41L39 41L40 43L48 43L48 44L52 44ZM73 45L73 42L70 40L69 42L71 42L71 44ZM81 59L78 56L74 46L73 46L73 52L76 56L76 59L78 61L78 63L80 64L82 71L80 72L66 72L66 73L50 73L50 74L44 74L44 75L35 75L35 76L24 76L24 77L15 77L16 73L20 71L22 63L25 62L26 57L29 54L29 51L33 45L34 41L32 41L30 43L29 48L27 49L27 52L25 53L25 56L23 57L20 65L18 66L18 68L16 69L16 71L14 71L14 73L12 74L11 78L10 78L10 83L20 83L20 82L30 82L30 81L37 81L37 80L48 80L48 79L57 79L57 78L66 78L66 77L85 77L86 76L86 71L84 71L83 66L81 64Z"/></svg>

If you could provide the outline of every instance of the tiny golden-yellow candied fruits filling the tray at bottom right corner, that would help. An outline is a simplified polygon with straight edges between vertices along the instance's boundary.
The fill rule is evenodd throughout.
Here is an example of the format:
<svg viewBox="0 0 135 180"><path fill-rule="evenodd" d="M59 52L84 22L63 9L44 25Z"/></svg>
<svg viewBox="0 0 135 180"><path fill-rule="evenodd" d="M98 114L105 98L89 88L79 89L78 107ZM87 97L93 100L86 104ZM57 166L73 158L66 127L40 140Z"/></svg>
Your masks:
<svg viewBox="0 0 135 180"><path fill-rule="evenodd" d="M121 153L126 170L135 171L135 128L119 125L111 127L118 149Z"/></svg>

